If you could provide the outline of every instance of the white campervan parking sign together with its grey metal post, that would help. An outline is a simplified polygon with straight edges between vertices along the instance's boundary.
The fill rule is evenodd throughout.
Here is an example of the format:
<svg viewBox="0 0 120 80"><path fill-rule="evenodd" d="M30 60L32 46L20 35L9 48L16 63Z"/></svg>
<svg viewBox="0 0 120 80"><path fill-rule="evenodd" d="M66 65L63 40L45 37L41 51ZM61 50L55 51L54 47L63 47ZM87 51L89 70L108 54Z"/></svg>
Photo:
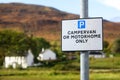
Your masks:
<svg viewBox="0 0 120 80"><path fill-rule="evenodd" d="M80 19L62 20L62 51L81 51L80 77L89 80L89 51L103 49L102 18L88 18L88 0L80 1Z"/></svg>

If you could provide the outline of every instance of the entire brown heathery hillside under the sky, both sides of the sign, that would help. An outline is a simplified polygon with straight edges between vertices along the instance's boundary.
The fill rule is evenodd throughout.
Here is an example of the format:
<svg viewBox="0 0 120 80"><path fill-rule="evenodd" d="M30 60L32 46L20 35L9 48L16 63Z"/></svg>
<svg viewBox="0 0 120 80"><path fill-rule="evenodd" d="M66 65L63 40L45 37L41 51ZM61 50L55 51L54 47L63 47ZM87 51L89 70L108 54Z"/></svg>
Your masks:
<svg viewBox="0 0 120 80"><path fill-rule="evenodd" d="M46 6L23 3L0 4L0 29L23 31L49 41L60 40L62 19L78 18L79 15ZM112 41L118 36L120 23L104 20L104 39Z"/></svg>

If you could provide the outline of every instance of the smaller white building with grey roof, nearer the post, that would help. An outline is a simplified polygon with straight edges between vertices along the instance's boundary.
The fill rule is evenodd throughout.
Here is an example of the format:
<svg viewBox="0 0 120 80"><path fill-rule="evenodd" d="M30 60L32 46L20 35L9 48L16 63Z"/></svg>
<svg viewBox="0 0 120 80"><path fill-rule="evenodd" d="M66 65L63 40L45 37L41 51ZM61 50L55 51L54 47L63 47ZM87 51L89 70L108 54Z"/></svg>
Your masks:
<svg viewBox="0 0 120 80"><path fill-rule="evenodd" d="M50 49L42 49L42 52L37 57L40 61L46 61L46 60L56 60L56 53L51 51Z"/></svg>

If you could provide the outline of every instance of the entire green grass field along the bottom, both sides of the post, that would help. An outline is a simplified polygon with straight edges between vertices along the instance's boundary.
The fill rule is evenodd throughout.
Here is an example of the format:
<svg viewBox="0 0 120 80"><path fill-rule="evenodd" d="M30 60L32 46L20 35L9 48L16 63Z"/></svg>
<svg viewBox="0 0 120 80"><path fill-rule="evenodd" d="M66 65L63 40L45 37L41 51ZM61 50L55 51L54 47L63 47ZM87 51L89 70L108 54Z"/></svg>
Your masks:
<svg viewBox="0 0 120 80"><path fill-rule="evenodd" d="M62 64L61 64L62 65ZM66 67L78 66L70 62ZM62 67L62 66L57 66ZM68 67L68 68L69 68ZM90 59L90 80L120 80L120 57ZM79 70L57 70L54 68L0 69L0 80L80 80Z"/></svg>

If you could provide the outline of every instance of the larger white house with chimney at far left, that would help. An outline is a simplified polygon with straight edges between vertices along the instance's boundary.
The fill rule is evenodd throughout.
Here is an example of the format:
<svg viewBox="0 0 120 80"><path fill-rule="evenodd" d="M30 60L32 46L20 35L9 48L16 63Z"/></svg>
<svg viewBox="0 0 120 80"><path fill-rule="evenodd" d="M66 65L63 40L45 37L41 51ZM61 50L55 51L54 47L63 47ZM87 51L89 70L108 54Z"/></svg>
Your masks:
<svg viewBox="0 0 120 80"><path fill-rule="evenodd" d="M28 66L32 66L34 63L34 56L31 50L28 50L27 56L6 56L5 57L5 68L9 68L10 66L13 68L22 67L27 68Z"/></svg>

